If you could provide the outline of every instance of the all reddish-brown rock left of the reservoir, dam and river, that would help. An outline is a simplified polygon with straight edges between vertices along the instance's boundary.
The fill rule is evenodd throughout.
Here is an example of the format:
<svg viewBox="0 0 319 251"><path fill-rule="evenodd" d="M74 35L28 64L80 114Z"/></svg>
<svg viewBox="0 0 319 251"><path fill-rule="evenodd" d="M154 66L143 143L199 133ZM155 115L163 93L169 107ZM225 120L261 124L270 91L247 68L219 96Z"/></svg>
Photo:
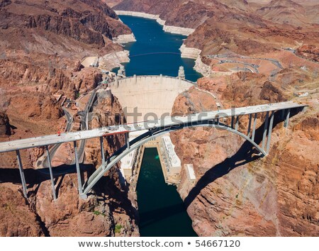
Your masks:
<svg viewBox="0 0 319 251"><path fill-rule="evenodd" d="M82 69L88 55L122 51L113 38L130 34L106 4L86 1L0 1L0 141L56 133L65 128L57 94L77 99L102 80L96 68ZM53 96L55 94L55 96ZM121 106L113 96L97 108L114 121ZM105 142L110 155L123 139ZM99 143L88 143L87 177L101 164ZM23 198L14 152L0 155L1 236L138 235L129 191L109 172L88 200L79 200L74 170L55 177L52 201L49 176L33 168L42 148L21 151L28 185ZM57 169L56 169L57 170ZM55 172L57 172L55 170ZM117 228L117 230L115 230Z"/></svg>

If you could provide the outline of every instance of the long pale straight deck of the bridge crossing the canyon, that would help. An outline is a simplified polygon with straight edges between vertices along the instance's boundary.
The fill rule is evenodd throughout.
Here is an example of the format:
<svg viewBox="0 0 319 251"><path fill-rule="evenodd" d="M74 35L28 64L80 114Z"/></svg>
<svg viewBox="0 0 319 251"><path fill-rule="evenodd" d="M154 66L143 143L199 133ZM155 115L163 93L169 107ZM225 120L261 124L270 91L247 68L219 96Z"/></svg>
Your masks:
<svg viewBox="0 0 319 251"><path fill-rule="evenodd" d="M265 104L259 106L247 106L241 108L225 109L219 111L209 111L203 113L194 113L186 117L166 117L156 121L131 123L128 125L113 125L108 128L96 128L93 130L82 130L79 132L62 133L58 135L45 135L35 138L26 138L23 140L12 140L0 143L0 152L10 152L14 150L28 149L32 147L41 147L45 145L54 145L59 143L67 143L75 140L87 140L90 138L99 138L105 135L113 135L116 133L128 133L138 130L149 130L172 125L180 125L184 123L196 123L198 121L209 121L214 118L229 118L234 116L242 116L253 113L262 113L267 111L279 111L290 108L304 107L306 105L297 104L293 101L282 102L276 104Z"/></svg>

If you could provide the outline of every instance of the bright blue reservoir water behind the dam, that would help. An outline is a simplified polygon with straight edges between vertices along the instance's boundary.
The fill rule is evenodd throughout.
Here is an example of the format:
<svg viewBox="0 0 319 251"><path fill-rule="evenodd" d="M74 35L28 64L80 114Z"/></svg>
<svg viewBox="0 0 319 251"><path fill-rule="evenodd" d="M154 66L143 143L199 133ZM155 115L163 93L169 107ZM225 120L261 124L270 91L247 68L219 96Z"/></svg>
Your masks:
<svg viewBox="0 0 319 251"><path fill-rule="evenodd" d="M177 77L184 66L186 79L196 82L202 77L193 67L195 60L181 58L179 48L186 36L165 33L155 20L120 16L133 31L137 42L125 45L130 51L130 62L125 63L126 75L167 75Z"/></svg>

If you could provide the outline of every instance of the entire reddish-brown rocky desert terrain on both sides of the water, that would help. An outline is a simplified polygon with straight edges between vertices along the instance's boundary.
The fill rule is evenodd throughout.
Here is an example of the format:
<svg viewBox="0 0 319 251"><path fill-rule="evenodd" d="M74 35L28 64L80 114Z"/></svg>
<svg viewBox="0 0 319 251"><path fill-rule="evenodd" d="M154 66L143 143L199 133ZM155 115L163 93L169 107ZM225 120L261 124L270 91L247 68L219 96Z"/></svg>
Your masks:
<svg viewBox="0 0 319 251"><path fill-rule="evenodd" d="M199 52L196 69L204 77L198 87L216 94L225 108L286 100L309 106L292 118L289 128L276 123L264 158L223 131L172 133L182 164L194 164L196 184L186 182L182 171L178 191L196 233L318 236L317 1L0 0L0 141L66 130L65 100L73 103L69 113L79 117L91 91L103 81L101 69L84 67L82 60L108 55L106 65L114 65L114 53L125 54L113 41L132 32L116 10L155 14L168 26L193 28L184 46ZM174 113L216 108L212 96L197 89L186 92L174 102ZM118 121L123 111L116 96L98 98L94 111L108 112L110 118L103 125L125 123L124 118ZM74 122L72 130L79 130L79 121ZM91 128L101 125L93 120ZM247 121L240 121L240 128L246 127ZM120 136L105 140L108 156L123 142ZM99 167L101 156L98 140L85 146L87 177ZM55 166L72 161L70 148L60 148ZM136 194L121 186L118 168L86 201L77 194L76 173L63 173L55 177L59 199L52 201L50 180L36 169L44 152L21 151L28 200L21 191L15 153L0 155L1 236L139 235Z"/></svg>

